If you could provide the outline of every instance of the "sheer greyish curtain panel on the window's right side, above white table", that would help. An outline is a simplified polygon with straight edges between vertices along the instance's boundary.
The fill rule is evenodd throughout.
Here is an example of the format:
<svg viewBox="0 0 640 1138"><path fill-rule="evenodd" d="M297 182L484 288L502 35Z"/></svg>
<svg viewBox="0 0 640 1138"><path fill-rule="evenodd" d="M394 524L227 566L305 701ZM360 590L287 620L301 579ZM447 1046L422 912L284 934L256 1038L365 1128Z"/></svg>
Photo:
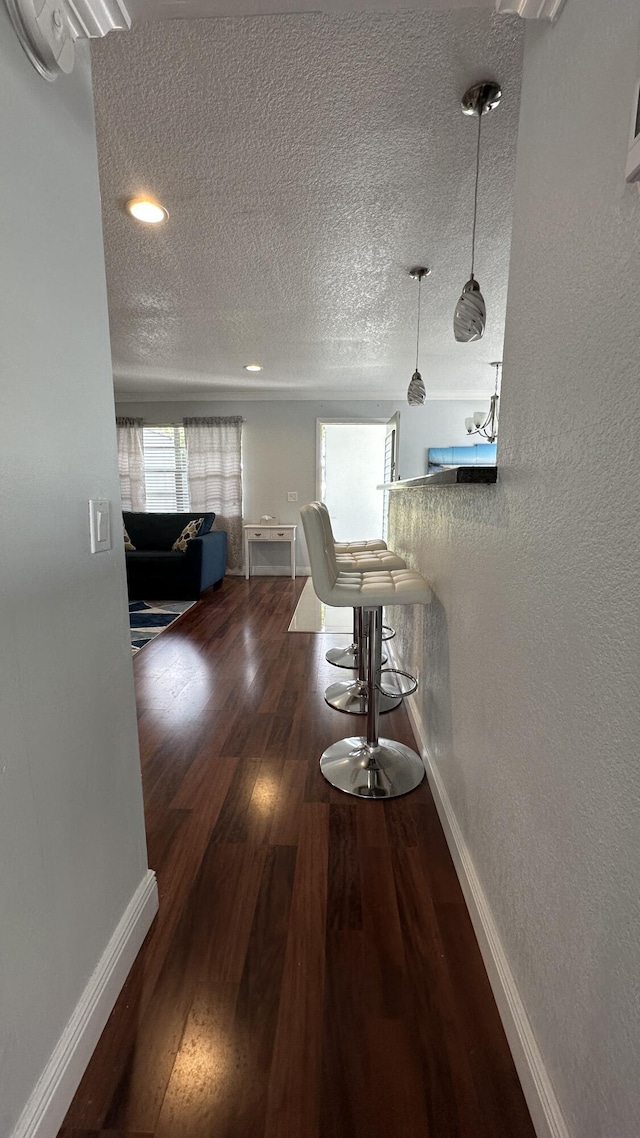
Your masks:
<svg viewBox="0 0 640 1138"><path fill-rule="evenodd" d="M191 510L214 510L215 528L227 530L230 572L243 566L243 420L184 419Z"/></svg>

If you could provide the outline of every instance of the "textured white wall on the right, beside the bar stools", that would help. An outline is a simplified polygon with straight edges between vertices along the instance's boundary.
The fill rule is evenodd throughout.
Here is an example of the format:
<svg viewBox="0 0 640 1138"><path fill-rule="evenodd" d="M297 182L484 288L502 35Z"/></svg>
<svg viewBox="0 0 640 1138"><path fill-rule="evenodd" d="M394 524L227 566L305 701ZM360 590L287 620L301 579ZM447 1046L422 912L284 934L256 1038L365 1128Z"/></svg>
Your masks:
<svg viewBox="0 0 640 1138"><path fill-rule="evenodd" d="M428 752L573 1138L640 1125L639 48L638 0L530 27L500 483L392 518L436 593L395 621Z"/></svg>

